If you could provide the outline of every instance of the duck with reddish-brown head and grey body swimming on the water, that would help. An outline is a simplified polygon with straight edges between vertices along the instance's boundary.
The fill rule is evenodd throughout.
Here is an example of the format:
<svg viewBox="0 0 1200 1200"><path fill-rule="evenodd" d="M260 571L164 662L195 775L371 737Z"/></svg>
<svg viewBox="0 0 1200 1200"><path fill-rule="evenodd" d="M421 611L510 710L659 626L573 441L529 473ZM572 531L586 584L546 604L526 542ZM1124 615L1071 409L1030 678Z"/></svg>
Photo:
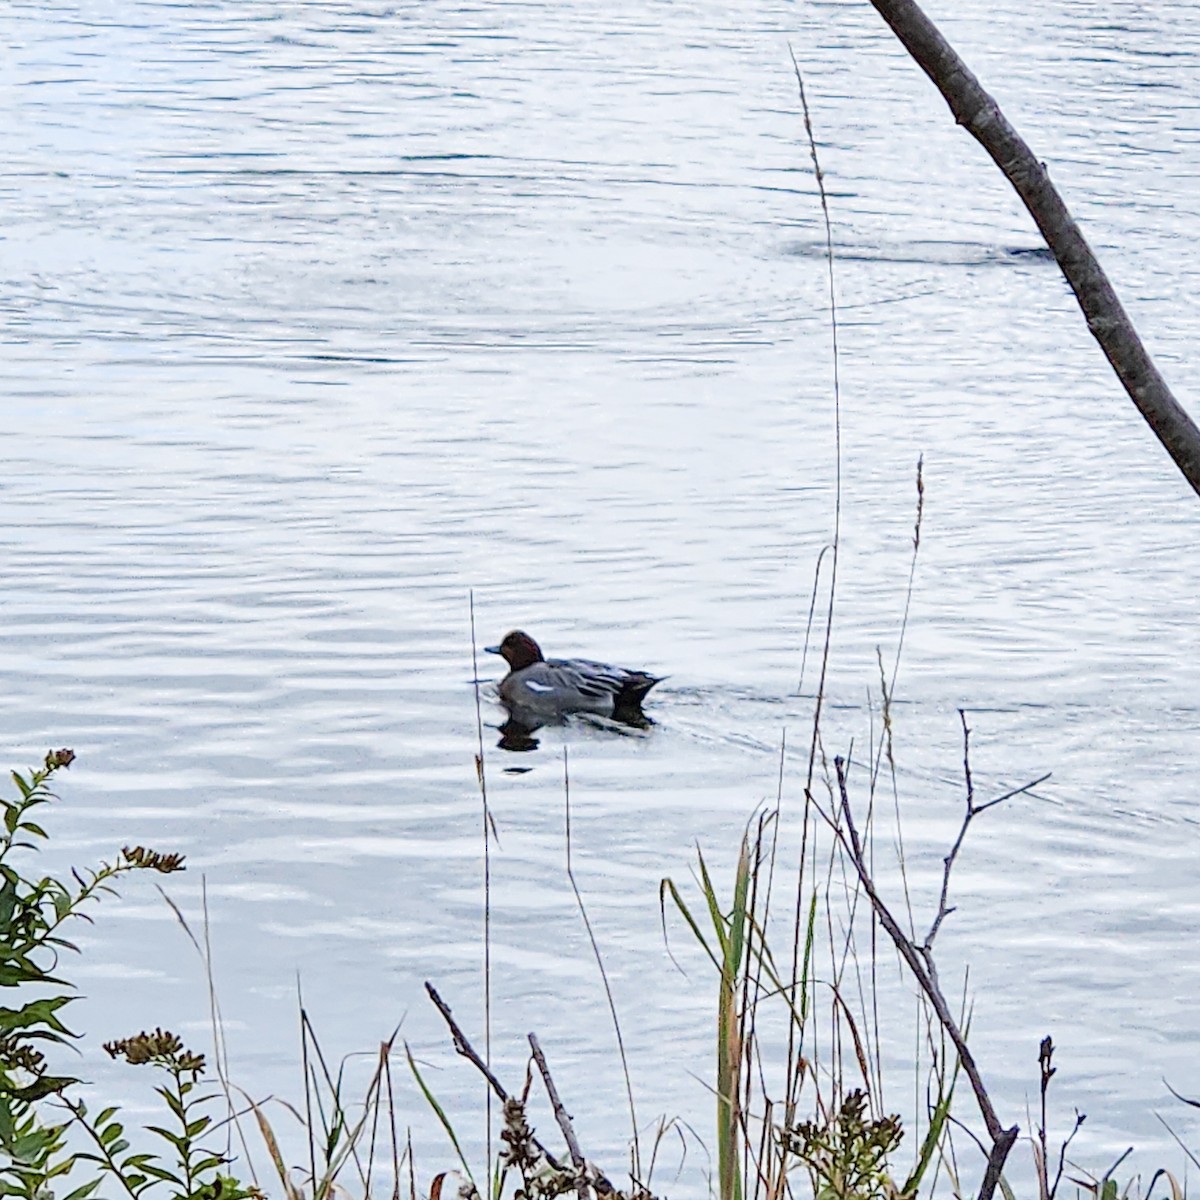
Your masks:
<svg viewBox="0 0 1200 1200"><path fill-rule="evenodd" d="M505 634L499 646L485 649L499 654L509 665L509 673L500 680L500 700L510 709L538 716L593 713L617 720L644 720L642 701L664 678L590 659L547 659L520 629Z"/></svg>

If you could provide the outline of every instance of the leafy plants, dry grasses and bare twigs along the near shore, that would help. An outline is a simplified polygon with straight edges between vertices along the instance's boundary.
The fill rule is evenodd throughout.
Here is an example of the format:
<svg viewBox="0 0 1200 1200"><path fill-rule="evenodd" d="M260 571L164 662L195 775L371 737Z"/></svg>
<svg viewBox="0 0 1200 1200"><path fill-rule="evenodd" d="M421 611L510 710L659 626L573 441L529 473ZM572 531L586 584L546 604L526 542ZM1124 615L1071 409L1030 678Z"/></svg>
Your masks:
<svg viewBox="0 0 1200 1200"><path fill-rule="evenodd" d="M967 1045L966 1021L942 996L934 944L953 911L948 900L952 871L972 822L1034 785L978 800L971 784L965 718L962 728L964 821L946 857L938 907L923 937L905 931L911 919L902 926L890 912L869 868L874 799L890 758L888 720L875 748L865 816L857 816L850 803L848 770L841 758L826 764L827 808L814 798L822 790L820 772L806 788L799 882L796 890L787 889L781 906L786 919L778 922L773 913L773 894L782 890L776 882L778 806L761 814L743 839L732 895L722 899L719 894L703 856L697 863L698 892L688 894L670 880L662 882L665 928L668 918L682 922L707 955L715 978L716 1176L712 1190L721 1200L792 1195L917 1200L938 1192L983 1194L989 1188L1013 1200L1004 1165L1018 1130L1006 1127L991 1109L984 1070ZM0 1009L0 1194L26 1200L100 1195L251 1200L266 1194L283 1200L335 1195L439 1200L451 1189L460 1195L511 1195L515 1200L563 1194L647 1200L656 1194L656 1145L641 1146L635 1128L629 1169L611 1172L623 1180L614 1183L581 1148L536 1037L529 1036L523 1086L510 1091L476 1054L432 985L427 985L430 998L445 1019L455 1049L481 1072L498 1100L500 1150L494 1162L479 1164L486 1172L480 1176L462 1150L454 1112L439 1103L408 1054L408 1067L427 1102L425 1118L440 1122L457 1160L454 1175L437 1172L424 1182L427 1176L413 1162L410 1141L398 1132L391 1075L395 1039L380 1046L366 1096L352 1104L344 1097L341 1072L325 1062L304 1014L308 1160L299 1166L286 1163L260 1105L235 1096L222 1069L220 1038L212 1052L215 1078L208 1055L161 1028L104 1045L114 1058L155 1073L154 1093L163 1112L157 1123L133 1128L115 1106L94 1110L85 1104L80 1081L49 1064L50 1058L61 1057L54 1051L74 1038L66 1014L74 990L64 978L67 955L74 950L67 937L70 924L88 919L88 910L112 894L122 876L173 874L184 869L184 860L137 846L122 850L112 864L72 871L70 880L22 874L20 864L30 859L20 856L47 838L43 811L54 799L49 784L72 758L70 750L52 751L37 770L14 773L18 794L2 802L0 984L17 1000L14 1007ZM814 762L821 762L820 754ZM835 889L828 887L839 874L850 883L841 901L832 899ZM830 907L835 904L841 906L836 912ZM586 922L582 896L580 906ZM778 900L774 907L780 907ZM773 944L776 929L786 936ZM878 1020L876 977L883 955L871 935L880 930L890 937L895 960L907 966L925 1030L920 1061L913 1064L925 1084L925 1103L904 1117L883 1110L878 1102L883 1091L880 1042L886 1031ZM870 949L860 954L864 935L871 936ZM602 977L602 958L596 953ZM614 1020L616 1013L613 1004ZM1052 1056L1052 1043L1045 1038L1038 1056L1039 1121L1027 1132L1038 1200L1055 1200L1064 1182L1098 1200L1150 1196L1156 1188L1159 1195L1180 1200L1184 1188L1165 1170L1142 1186L1139 1180L1118 1183L1114 1172L1120 1164L1098 1175L1070 1165L1068 1147L1084 1118L1076 1116L1074 1128L1057 1142L1050 1136L1046 1098L1055 1075ZM565 1152L551 1150L529 1123L534 1078L546 1091ZM960 1111L961 1103L955 1105L956 1097L965 1096L978 1112L974 1122ZM275 1178L269 1184L253 1177L246 1122L274 1164ZM912 1148L908 1165L901 1168L906 1140ZM972 1147L978 1165L972 1165L972 1153L965 1153L956 1140ZM235 1141L241 1153L233 1152ZM484 1186L475 1182L476 1176ZM976 1182L968 1183L972 1178Z"/></svg>

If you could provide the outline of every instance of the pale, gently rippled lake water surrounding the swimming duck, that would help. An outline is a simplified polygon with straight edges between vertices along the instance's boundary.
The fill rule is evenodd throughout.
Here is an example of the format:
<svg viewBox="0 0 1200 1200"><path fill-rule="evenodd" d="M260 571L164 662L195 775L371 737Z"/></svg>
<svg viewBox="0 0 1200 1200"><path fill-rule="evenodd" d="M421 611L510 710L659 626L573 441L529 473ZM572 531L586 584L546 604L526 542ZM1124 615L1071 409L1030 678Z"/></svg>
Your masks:
<svg viewBox="0 0 1200 1200"><path fill-rule="evenodd" d="M1187 403L1192 6L931 14ZM619 1172L623 1084L564 871L569 746L638 1117L710 1141L715 989L683 930L688 977L667 958L658 886L697 844L727 886L785 730L797 805L833 529L791 42L841 305L826 745L877 732L924 455L894 712L918 902L961 815L958 708L980 796L1054 773L972 830L943 978L970 965L1002 1116L1026 1126L1052 1033L1058 1124L1088 1114L1076 1160L1134 1144L1138 1168L1182 1169L1156 1112L1200 1141L1163 1084L1200 1091L1200 506L868 5L35 0L0 30L4 762L79 755L50 863L187 854L166 884L194 919L206 881L236 1080L298 1097L299 980L332 1056L403 1021L442 1098L479 1098L421 990L478 1034L474 589L480 644L526 628L670 674L648 734L572 725L520 755L484 695L496 1060L517 1082L535 1028ZM203 971L151 881L98 916L76 1024L205 1045ZM128 1068L80 1070L144 1104ZM450 1156L401 1088L427 1178ZM706 1170L694 1146L660 1183L694 1194Z"/></svg>

